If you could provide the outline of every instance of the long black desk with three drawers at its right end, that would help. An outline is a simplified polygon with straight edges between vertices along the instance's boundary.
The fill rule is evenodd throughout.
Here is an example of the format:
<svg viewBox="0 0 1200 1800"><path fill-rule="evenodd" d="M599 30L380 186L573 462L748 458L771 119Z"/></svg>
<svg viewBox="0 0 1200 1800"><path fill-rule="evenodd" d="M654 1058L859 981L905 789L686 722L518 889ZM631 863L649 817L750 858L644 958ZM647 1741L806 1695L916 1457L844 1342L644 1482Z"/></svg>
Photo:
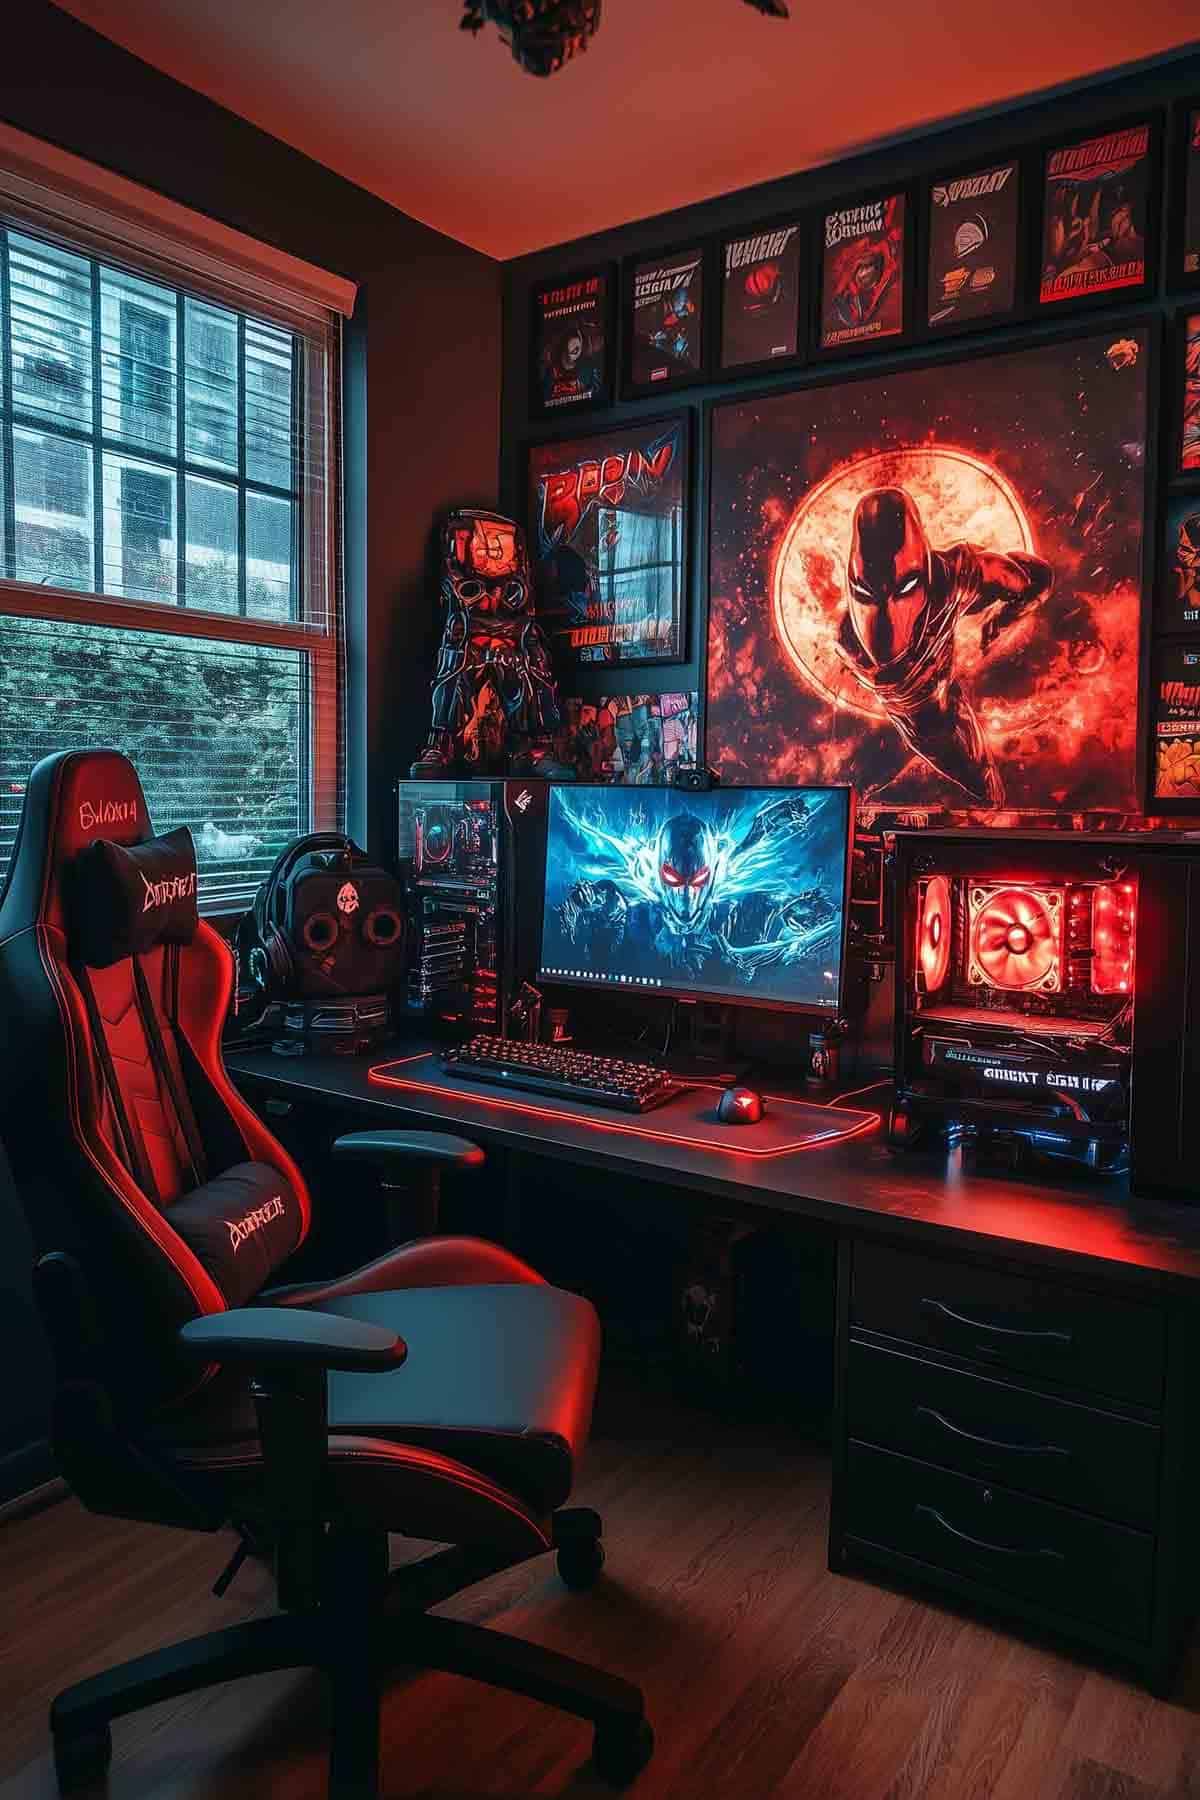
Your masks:
<svg viewBox="0 0 1200 1800"><path fill-rule="evenodd" d="M756 1161L596 1132L590 1109L529 1120L380 1087L358 1060L241 1051L228 1067L257 1103L401 1114L723 1215L831 1228L831 1566L885 1568L1169 1678L1195 1609L1200 1206L1011 1181L878 1134Z"/></svg>

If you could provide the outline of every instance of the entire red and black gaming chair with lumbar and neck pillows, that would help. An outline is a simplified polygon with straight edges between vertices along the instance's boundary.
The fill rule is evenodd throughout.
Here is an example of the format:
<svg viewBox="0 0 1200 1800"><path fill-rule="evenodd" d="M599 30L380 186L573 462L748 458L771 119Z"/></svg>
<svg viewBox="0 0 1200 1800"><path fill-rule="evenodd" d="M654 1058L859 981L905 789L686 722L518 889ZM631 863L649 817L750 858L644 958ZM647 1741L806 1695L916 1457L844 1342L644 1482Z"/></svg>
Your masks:
<svg viewBox="0 0 1200 1800"><path fill-rule="evenodd" d="M551 1548L567 1586L599 1573L597 1516L558 1510L590 1422L596 1312L455 1237L324 1285L268 1285L286 1283L309 1199L225 1075L232 958L194 889L191 835L151 837L124 756L38 763L0 896L0 1139L40 1251L56 1454L94 1512L236 1523L239 1553L270 1544L281 1606L59 1694L59 1784L103 1771L121 1714L315 1667L333 1694L329 1791L360 1800L378 1793L380 1692L398 1665L590 1719L596 1769L630 1780L653 1742L635 1687L428 1616ZM403 1130L340 1148L482 1159ZM389 1530L446 1548L389 1573Z"/></svg>

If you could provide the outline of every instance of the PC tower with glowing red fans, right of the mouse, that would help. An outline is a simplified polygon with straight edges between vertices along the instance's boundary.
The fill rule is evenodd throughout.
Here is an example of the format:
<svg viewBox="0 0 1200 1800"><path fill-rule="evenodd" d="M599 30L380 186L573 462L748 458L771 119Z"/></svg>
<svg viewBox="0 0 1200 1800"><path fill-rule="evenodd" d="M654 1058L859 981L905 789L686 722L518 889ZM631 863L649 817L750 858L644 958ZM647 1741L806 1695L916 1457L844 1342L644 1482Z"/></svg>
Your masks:
<svg viewBox="0 0 1200 1800"><path fill-rule="evenodd" d="M1200 844L901 832L894 880L892 1143L999 1141L1200 1199Z"/></svg>

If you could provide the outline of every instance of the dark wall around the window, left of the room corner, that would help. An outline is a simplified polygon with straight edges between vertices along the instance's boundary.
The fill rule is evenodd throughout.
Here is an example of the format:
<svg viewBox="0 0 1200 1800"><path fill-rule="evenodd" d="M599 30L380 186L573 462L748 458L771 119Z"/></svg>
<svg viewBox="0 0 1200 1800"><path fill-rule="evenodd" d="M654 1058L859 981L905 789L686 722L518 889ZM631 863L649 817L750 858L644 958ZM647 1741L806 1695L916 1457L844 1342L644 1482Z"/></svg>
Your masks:
<svg viewBox="0 0 1200 1800"><path fill-rule="evenodd" d="M45 0L0 56L0 119L362 284L347 342L351 824L390 844L423 740L430 524L497 499L500 265L419 225ZM369 320L369 324L367 324Z"/></svg>

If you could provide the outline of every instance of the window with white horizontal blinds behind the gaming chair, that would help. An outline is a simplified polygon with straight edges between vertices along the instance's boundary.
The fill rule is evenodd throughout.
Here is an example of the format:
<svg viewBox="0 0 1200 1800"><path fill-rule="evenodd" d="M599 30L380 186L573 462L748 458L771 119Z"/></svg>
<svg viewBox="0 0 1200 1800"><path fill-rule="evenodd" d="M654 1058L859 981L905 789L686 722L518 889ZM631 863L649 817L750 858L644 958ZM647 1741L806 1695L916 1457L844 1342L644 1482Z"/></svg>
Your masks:
<svg viewBox="0 0 1200 1800"><path fill-rule="evenodd" d="M344 823L336 338L92 248L0 216L0 875L32 763L112 743L234 909Z"/></svg>

